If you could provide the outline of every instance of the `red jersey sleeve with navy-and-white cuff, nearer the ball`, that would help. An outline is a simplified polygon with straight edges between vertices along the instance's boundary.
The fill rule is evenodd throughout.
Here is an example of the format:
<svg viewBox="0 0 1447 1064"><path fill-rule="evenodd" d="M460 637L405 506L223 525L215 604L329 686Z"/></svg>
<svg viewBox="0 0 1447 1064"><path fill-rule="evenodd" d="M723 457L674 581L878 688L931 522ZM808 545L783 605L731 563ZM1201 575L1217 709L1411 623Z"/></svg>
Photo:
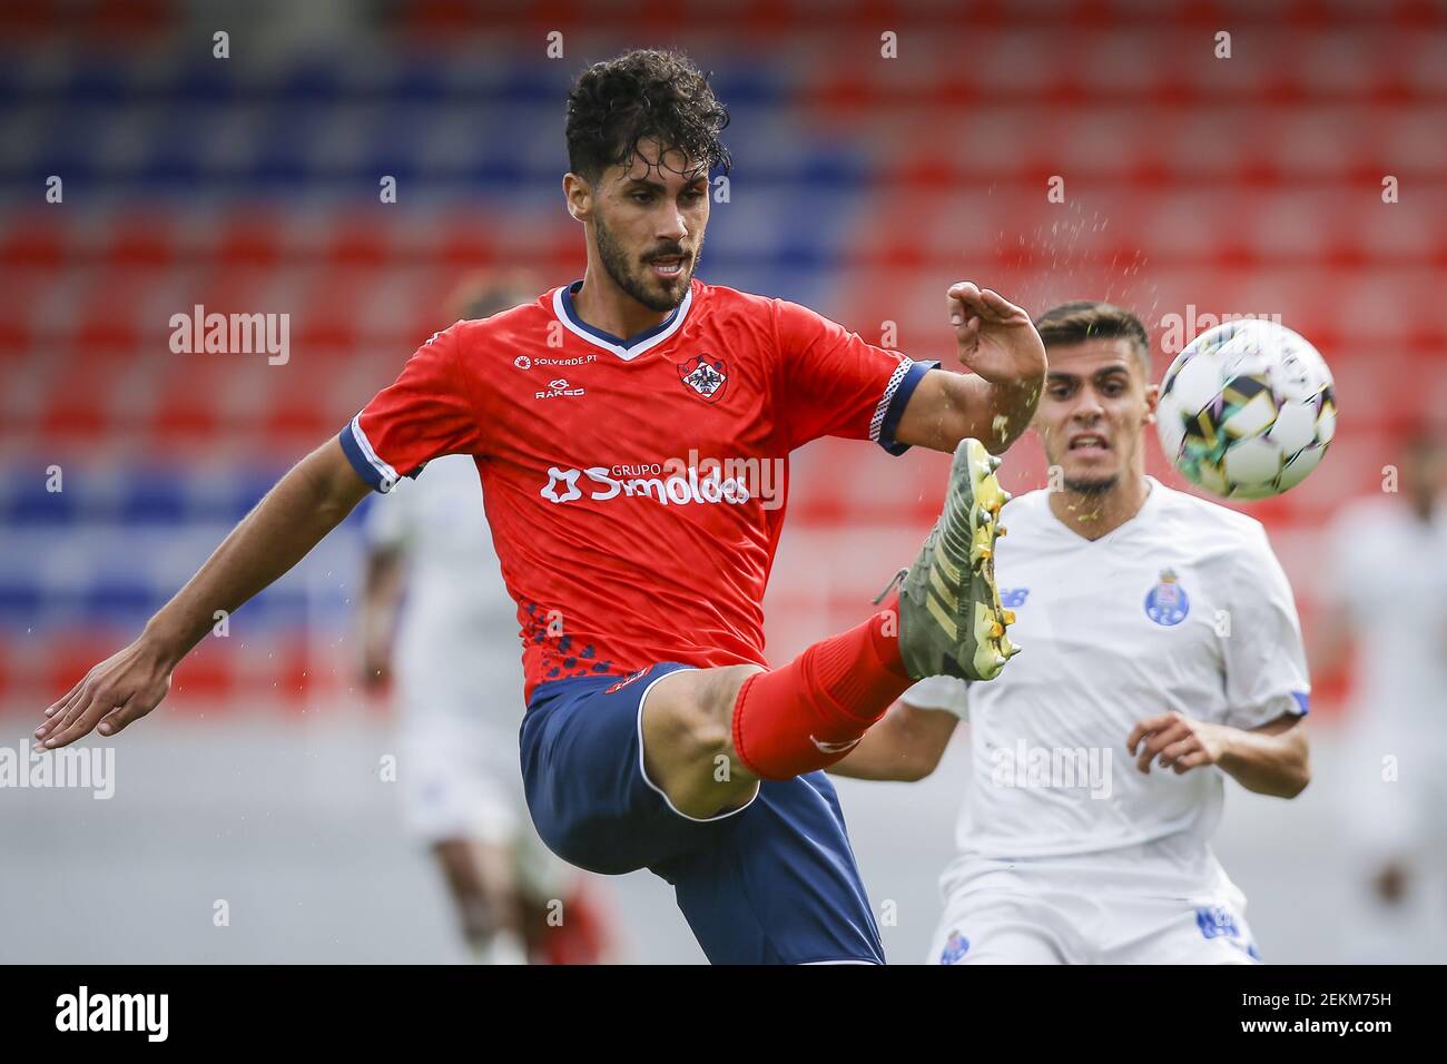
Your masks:
<svg viewBox="0 0 1447 1064"><path fill-rule="evenodd" d="M797 303L773 303L783 382L778 410L790 449L844 436L874 440L891 455L909 450L894 431L915 388L939 363L875 347Z"/></svg>

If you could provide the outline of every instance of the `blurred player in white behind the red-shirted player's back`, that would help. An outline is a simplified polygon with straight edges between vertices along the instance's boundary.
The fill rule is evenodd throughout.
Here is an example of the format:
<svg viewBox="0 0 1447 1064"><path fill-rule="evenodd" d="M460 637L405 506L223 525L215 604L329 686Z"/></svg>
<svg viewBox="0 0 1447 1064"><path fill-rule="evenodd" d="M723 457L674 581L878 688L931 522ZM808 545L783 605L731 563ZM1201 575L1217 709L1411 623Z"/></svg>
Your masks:
<svg viewBox="0 0 1447 1064"><path fill-rule="evenodd" d="M469 278L449 300L451 317L488 317L527 301L530 287ZM601 915L582 876L538 838L522 796L518 624L472 457L436 459L373 499L366 541L363 676L370 688L395 676L404 822L436 857L473 958L596 960ZM564 902L559 926L547 918L553 899Z"/></svg>

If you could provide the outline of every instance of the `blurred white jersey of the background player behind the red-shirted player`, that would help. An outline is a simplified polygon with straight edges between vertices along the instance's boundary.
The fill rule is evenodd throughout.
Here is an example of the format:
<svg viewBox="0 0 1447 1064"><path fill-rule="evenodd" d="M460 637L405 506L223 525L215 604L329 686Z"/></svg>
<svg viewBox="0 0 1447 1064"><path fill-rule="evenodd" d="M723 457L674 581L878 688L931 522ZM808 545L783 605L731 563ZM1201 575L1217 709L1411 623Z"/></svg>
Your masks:
<svg viewBox="0 0 1447 1064"><path fill-rule="evenodd" d="M373 498L366 534L407 559L395 649L404 712L492 718L515 730L524 709L517 607L473 459L438 457Z"/></svg>

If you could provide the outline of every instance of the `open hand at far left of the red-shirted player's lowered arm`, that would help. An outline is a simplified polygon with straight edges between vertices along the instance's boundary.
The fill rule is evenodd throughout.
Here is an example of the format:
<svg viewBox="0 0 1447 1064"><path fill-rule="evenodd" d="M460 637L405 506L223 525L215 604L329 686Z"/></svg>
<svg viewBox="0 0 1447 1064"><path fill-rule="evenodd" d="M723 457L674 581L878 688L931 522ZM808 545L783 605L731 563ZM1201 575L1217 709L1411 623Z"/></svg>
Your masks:
<svg viewBox="0 0 1447 1064"><path fill-rule="evenodd" d="M36 744L64 747L97 725L101 735L114 735L161 704L171 691L174 669L168 654L145 637L136 640L85 673L85 679L45 711L45 724L35 731Z"/></svg>

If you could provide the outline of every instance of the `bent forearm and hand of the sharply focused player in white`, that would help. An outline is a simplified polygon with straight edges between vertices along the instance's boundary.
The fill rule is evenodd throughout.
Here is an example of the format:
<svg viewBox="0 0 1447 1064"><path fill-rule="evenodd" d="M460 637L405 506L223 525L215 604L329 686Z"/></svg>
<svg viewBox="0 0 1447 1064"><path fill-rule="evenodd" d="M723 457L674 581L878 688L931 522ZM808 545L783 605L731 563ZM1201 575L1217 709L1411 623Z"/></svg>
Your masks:
<svg viewBox="0 0 1447 1064"><path fill-rule="evenodd" d="M1176 776L1214 764L1247 790L1272 798L1295 798L1311 782L1307 727L1297 714L1283 714L1259 728L1160 714L1136 724L1126 748L1140 772L1150 772L1152 760Z"/></svg>

